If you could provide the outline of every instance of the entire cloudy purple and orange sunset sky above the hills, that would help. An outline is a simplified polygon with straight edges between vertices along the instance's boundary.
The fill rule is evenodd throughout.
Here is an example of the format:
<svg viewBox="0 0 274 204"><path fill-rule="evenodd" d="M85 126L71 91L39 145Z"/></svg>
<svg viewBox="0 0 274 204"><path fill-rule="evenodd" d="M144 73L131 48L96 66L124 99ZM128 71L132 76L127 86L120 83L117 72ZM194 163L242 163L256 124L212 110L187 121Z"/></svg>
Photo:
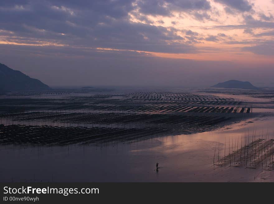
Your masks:
<svg viewBox="0 0 274 204"><path fill-rule="evenodd" d="M1 0L0 63L49 86L274 87L274 0Z"/></svg>

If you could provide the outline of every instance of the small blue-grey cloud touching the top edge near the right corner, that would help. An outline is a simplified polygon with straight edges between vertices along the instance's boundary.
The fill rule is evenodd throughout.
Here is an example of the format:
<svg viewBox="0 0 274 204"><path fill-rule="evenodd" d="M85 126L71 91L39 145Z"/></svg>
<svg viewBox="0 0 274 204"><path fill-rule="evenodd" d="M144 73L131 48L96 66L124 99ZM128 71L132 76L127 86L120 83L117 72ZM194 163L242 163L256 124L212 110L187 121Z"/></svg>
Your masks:
<svg viewBox="0 0 274 204"><path fill-rule="evenodd" d="M226 5L227 7L230 7L232 9L236 9L238 11L250 11L252 9L252 4L250 4L247 0L214 0L215 2L222 3ZM230 12L231 10L226 8L227 12Z"/></svg>

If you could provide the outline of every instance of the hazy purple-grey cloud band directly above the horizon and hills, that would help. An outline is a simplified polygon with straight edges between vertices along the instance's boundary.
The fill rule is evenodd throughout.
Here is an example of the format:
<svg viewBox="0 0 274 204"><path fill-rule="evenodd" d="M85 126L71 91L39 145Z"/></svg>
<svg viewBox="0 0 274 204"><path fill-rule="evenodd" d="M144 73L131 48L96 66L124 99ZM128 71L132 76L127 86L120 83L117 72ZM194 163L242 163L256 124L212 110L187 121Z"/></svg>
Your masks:
<svg viewBox="0 0 274 204"><path fill-rule="evenodd" d="M68 47L29 48L0 45L0 61L50 86L59 87L62 85L205 87L234 78L235 73L239 80L251 81L254 85L258 82L273 82L272 64L260 64L258 71L258 65L252 63L245 65L228 61L168 59L127 51L94 51L86 55L82 51L84 57L79 57L75 56L76 52ZM64 52L67 52L65 56L58 55ZM16 60L14 60L15 53Z"/></svg>

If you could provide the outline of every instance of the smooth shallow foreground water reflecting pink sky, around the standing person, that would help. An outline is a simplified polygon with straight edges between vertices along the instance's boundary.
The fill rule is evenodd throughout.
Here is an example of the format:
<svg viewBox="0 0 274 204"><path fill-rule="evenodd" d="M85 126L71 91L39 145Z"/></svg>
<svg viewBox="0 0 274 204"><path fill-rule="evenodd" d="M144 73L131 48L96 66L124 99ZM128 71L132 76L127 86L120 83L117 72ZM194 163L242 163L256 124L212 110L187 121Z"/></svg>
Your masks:
<svg viewBox="0 0 274 204"><path fill-rule="evenodd" d="M254 181L261 170L213 165L215 147L226 154L241 135L270 133L274 117L257 118L217 131L158 137L130 143L64 147L0 146L0 180L9 181ZM267 130L268 128L268 130ZM234 143L233 142L233 143ZM243 142L243 141L242 141ZM217 153L215 155L218 156ZM155 170L156 162L160 169ZM273 178L273 177L272 177ZM253 180L252 180L253 179Z"/></svg>

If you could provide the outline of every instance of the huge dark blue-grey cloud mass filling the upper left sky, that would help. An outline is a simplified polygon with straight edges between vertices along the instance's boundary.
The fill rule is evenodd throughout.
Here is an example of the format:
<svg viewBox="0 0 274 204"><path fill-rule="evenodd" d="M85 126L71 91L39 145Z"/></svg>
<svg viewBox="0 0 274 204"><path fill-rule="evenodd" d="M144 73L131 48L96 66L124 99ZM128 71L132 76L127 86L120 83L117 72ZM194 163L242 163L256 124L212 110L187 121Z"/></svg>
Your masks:
<svg viewBox="0 0 274 204"><path fill-rule="evenodd" d="M150 25L153 22L143 14L138 15L133 2L129 0L4 1L0 5L0 29L12 32L5 34L4 40L17 43L46 42L83 48L196 52L196 49L189 45L189 41L186 42L177 34L178 30ZM172 9L209 8L210 5L206 2L166 1ZM131 11L145 23L130 21L128 12Z"/></svg>

